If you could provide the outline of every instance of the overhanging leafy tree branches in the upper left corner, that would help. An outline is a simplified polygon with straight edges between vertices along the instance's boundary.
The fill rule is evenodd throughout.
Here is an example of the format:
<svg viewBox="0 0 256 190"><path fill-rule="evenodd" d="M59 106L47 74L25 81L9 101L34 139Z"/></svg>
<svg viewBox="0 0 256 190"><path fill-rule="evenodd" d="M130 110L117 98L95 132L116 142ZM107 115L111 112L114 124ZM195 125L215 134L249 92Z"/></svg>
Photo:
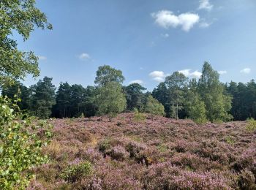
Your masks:
<svg viewBox="0 0 256 190"><path fill-rule="evenodd" d="M18 50L17 42L10 38L17 31L25 41L34 26L52 28L45 14L35 7L35 0L0 1L0 85L24 79L27 74L39 75L37 56Z"/></svg>

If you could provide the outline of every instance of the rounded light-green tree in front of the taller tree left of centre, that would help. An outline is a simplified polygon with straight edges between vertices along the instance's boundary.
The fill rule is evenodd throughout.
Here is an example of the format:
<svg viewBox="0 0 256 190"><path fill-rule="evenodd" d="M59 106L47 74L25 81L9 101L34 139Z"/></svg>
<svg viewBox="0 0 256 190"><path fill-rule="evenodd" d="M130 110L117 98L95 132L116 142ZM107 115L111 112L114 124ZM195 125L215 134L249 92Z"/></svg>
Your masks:
<svg viewBox="0 0 256 190"><path fill-rule="evenodd" d="M127 107L127 100L121 91L121 85L116 82L109 82L99 87L95 103L98 107L98 114L108 115L109 121Z"/></svg>

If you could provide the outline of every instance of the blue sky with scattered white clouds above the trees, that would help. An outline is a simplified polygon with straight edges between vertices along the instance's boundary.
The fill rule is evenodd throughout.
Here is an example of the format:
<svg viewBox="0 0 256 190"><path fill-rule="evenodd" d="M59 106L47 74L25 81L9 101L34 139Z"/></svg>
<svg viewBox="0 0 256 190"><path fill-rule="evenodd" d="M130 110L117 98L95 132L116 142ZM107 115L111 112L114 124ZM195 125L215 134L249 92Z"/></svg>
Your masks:
<svg viewBox="0 0 256 190"><path fill-rule="evenodd" d="M38 0L53 30L35 29L20 50L39 56L40 77L94 86L97 68L121 69L124 85L152 91L179 71L200 77L204 61L223 83L256 75L255 0Z"/></svg>

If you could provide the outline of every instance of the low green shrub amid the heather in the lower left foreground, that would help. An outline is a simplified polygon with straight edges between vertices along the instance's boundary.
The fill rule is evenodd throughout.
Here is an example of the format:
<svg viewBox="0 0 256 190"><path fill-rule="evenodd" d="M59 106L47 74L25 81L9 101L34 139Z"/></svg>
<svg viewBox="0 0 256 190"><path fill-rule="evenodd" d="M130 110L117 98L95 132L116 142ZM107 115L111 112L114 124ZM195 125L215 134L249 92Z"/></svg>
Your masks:
<svg viewBox="0 0 256 190"><path fill-rule="evenodd" d="M83 161L78 164L69 165L62 173L61 178L67 180L68 182L74 183L92 172L92 165L89 161Z"/></svg>

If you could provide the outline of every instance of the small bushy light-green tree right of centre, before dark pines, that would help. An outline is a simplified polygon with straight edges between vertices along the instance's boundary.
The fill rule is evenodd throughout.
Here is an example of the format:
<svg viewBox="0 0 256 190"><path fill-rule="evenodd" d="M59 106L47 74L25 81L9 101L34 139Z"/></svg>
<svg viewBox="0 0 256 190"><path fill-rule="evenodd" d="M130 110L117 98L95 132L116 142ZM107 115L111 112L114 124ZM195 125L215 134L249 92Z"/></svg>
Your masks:
<svg viewBox="0 0 256 190"><path fill-rule="evenodd" d="M149 95L146 102L145 112L151 114L152 121L154 120L154 115L165 115L165 107L154 99L153 96Z"/></svg>

